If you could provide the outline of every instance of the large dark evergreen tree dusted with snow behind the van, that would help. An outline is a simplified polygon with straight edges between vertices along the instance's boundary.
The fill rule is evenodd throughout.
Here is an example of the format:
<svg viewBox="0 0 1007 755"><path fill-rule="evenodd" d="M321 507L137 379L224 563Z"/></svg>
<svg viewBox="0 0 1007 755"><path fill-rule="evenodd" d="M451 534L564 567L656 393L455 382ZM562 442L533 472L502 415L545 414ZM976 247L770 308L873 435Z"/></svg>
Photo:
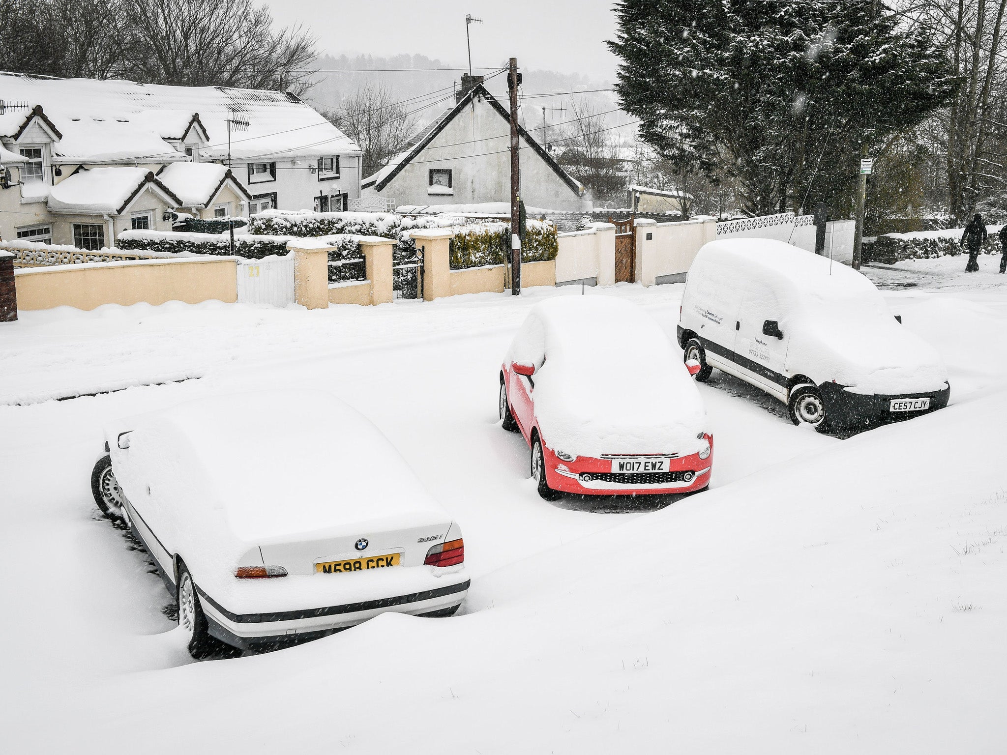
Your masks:
<svg viewBox="0 0 1007 755"><path fill-rule="evenodd" d="M765 214L845 211L861 145L911 129L958 86L923 31L865 0L620 0L609 47L640 138L735 183Z"/></svg>

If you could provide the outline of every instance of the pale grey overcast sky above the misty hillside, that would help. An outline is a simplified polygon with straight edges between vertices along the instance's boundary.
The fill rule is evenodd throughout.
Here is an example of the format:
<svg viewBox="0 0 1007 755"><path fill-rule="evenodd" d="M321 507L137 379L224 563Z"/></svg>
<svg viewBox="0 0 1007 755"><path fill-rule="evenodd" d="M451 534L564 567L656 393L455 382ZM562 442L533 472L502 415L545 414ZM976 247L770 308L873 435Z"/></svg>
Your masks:
<svg viewBox="0 0 1007 755"><path fill-rule="evenodd" d="M423 54L465 64L465 14L473 23L472 65L512 55L523 68L612 79L616 58L610 0L262 0L283 26L300 23L332 54Z"/></svg>

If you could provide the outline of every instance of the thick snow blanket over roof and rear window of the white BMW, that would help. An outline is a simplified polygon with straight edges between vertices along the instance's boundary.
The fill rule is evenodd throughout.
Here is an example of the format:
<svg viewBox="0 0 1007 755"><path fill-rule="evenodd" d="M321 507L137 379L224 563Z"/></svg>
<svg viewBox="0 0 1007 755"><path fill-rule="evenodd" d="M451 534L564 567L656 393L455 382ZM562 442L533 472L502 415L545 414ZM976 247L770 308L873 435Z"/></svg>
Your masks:
<svg viewBox="0 0 1007 755"><path fill-rule="evenodd" d="M347 523L366 532L450 520L388 439L322 392L214 396L116 422L106 437L131 500L156 478L160 504L212 531L223 551L326 537Z"/></svg>

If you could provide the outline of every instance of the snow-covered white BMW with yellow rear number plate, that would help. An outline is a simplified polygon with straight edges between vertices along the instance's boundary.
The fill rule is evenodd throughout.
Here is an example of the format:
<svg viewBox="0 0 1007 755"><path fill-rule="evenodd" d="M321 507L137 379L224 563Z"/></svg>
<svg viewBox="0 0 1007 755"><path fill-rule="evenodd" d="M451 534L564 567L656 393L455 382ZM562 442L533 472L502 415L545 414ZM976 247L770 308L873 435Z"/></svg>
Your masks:
<svg viewBox="0 0 1007 755"><path fill-rule="evenodd" d="M328 394L213 397L115 423L92 490L153 557L195 657L385 611L449 616L468 590L458 525Z"/></svg>

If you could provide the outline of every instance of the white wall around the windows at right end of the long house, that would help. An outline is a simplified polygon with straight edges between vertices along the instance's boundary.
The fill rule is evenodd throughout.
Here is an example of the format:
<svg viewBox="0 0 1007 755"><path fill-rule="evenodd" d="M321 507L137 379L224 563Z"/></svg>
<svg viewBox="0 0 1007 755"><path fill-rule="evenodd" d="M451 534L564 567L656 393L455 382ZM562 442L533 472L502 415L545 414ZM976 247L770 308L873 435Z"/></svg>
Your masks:
<svg viewBox="0 0 1007 755"><path fill-rule="evenodd" d="M264 159L259 162L274 164L275 173L260 173L252 180L249 180L247 161L233 161L231 171L253 197L276 194L276 209L311 210L314 208L315 197L319 194L330 197L346 194L347 199L355 199L361 195L359 157L340 155L338 177L331 173L319 173L317 160L317 157L275 161ZM314 172L311 171L312 167L315 168Z"/></svg>

